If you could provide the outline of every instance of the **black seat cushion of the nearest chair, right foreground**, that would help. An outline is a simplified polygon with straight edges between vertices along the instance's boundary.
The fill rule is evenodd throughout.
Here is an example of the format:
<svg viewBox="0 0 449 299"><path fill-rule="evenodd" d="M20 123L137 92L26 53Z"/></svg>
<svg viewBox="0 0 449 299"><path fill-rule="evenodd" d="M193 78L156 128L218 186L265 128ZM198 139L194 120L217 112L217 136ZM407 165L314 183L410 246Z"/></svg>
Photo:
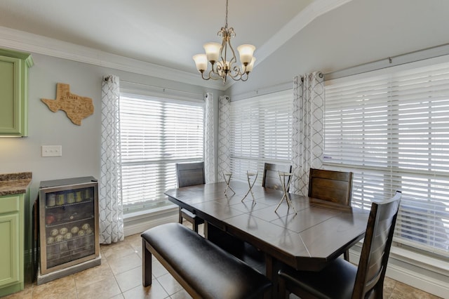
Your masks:
<svg viewBox="0 0 449 299"><path fill-rule="evenodd" d="M335 259L320 272L279 270L287 288L296 285L318 298L351 298L356 274L357 267L342 258Z"/></svg>

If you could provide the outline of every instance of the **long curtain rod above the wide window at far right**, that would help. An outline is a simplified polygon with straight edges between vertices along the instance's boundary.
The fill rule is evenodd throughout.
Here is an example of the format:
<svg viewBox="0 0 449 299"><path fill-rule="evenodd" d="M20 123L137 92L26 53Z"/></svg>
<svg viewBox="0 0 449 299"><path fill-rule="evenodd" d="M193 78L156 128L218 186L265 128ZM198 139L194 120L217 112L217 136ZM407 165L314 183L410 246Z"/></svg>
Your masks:
<svg viewBox="0 0 449 299"><path fill-rule="evenodd" d="M340 69L334 72L328 72L324 74L325 81L338 79L342 77L348 77L355 74L363 74L365 72L372 72L377 69L384 69L387 67L394 67L396 65L403 65L410 62L425 60L429 58L436 58L443 55L449 55L449 44L443 44L440 46L434 46L417 50L401 55L390 56L381 60L375 60L373 62L363 63L354 67L348 67L347 69Z"/></svg>

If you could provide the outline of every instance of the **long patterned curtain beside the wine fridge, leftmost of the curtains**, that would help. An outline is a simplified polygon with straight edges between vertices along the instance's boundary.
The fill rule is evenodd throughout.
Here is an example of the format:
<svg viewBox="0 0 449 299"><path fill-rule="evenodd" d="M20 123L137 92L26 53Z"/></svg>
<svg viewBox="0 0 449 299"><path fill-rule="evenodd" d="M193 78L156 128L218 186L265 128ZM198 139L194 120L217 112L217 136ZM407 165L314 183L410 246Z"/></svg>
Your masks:
<svg viewBox="0 0 449 299"><path fill-rule="evenodd" d="M100 243L122 241L119 77L103 77L101 85Z"/></svg>

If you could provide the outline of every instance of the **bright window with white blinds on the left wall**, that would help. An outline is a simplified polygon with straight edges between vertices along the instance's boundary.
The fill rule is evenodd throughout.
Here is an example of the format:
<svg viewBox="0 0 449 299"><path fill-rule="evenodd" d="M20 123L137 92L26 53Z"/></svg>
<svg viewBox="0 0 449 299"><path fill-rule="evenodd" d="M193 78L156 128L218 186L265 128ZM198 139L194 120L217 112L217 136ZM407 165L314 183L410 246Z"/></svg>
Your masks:
<svg viewBox="0 0 449 299"><path fill-rule="evenodd" d="M203 102L121 94L122 197L125 212L166 204L175 164L203 161Z"/></svg>

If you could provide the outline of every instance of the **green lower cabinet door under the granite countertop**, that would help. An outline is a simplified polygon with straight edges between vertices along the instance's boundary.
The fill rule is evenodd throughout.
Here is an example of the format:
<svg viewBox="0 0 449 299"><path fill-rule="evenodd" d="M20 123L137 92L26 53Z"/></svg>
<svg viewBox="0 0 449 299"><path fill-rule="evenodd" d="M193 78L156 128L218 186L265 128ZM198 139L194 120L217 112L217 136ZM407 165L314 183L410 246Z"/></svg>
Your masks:
<svg viewBox="0 0 449 299"><path fill-rule="evenodd" d="M0 215L0 286L20 281L19 213Z"/></svg>

